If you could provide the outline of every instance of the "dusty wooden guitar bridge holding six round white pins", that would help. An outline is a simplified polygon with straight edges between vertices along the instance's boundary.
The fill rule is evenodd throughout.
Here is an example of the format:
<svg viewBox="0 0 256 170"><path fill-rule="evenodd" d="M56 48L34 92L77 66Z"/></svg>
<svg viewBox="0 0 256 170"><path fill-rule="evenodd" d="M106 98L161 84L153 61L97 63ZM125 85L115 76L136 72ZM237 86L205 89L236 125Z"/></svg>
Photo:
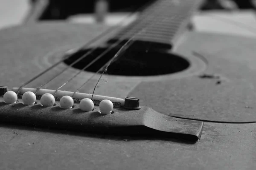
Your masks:
<svg viewBox="0 0 256 170"><path fill-rule="evenodd" d="M29 90L35 92L36 89L24 88L21 90L21 94ZM13 88L13 91L17 92L17 88ZM189 142L197 142L201 137L202 121L167 116L144 106L127 109L134 105L132 102L137 101L137 98L119 99L93 95L95 103L93 111L84 112L79 109L77 104L70 109L63 109L60 107L59 100L55 101L55 106L43 107L39 99L43 93L49 92L54 93L54 91L46 89L38 91L34 105L24 105L21 99L17 99L16 103L6 104L3 97L0 97L0 121L84 132L179 138ZM56 96L58 95L56 99L67 94L73 94L73 92L59 91L56 94ZM81 97L88 97L90 94L76 93L75 95L73 96L76 99L75 103L78 103L82 99ZM98 103L106 98L117 103L118 107L113 108L111 114L103 115L99 112ZM136 103L138 104L138 102Z"/></svg>

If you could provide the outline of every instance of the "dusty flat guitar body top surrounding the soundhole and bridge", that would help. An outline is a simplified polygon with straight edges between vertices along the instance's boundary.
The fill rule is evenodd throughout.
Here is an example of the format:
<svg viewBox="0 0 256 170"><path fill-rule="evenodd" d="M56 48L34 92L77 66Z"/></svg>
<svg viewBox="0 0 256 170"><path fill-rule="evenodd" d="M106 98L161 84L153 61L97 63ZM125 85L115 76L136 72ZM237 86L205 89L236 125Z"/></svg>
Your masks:
<svg viewBox="0 0 256 170"><path fill-rule="evenodd" d="M0 31L1 85L19 87L60 60L65 51L106 29L41 23ZM183 71L144 77L107 74L108 81L96 88L95 94L134 96L140 105L160 113L204 121L199 142L2 124L1 169L255 169L255 46L256 40L250 38L186 32L172 50L159 50L188 61ZM64 67L63 63L52 73ZM46 88L58 88L76 71L70 68ZM63 90L76 90L91 75L84 71ZM92 93L98 78L83 92Z"/></svg>

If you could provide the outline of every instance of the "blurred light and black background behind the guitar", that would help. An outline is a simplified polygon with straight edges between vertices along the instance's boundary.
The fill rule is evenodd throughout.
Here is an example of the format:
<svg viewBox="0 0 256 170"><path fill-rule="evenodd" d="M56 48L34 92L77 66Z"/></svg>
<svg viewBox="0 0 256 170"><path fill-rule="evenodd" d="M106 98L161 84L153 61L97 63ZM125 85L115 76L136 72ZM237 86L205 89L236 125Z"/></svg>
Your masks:
<svg viewBox="0 0 256 170"><path fill-rule="evenodd" d="M0 0L0 29L44 21L119 23L149 0ZM255 36L256 0L205 0L192 18L195 31ZM137 13L130 17L131 22Z"/></svg>

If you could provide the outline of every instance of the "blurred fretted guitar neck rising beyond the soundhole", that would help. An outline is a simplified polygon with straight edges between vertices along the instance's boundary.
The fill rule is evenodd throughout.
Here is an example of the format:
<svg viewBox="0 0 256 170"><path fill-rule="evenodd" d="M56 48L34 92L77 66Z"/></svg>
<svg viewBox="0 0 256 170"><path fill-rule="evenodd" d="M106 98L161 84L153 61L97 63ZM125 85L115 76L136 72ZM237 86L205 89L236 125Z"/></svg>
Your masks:
<svg viewBox="0 0 256 170"><path fill-rule="evenodd" d="M109 42L119 39L124 39L125 42L135 35L134 40L142 43L142 47L150 45L154 48L172 48L201 2L202 0L157 0Z"/></svg>

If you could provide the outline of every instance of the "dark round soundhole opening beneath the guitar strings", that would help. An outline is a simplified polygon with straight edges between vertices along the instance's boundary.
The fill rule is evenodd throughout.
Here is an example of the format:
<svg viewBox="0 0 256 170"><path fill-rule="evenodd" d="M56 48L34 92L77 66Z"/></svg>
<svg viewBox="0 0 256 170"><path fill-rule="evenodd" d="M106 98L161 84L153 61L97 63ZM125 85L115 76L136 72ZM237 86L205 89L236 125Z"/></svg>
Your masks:
<svg viewBox="0 0 256 170"><path fill-rule="evenodd" d="M107 48L97 48L90 55L87 55L81 59L81 61L72 65L73 62L91 49L81 50L64 60L64 63L67 65L72 65L73 68L83 69L106 49ZM86 68L85 71L97 72L112 57L114 57L118 50L119 48L109 51L107 54ZM174 54L150 50L139 51L128 49L125 51L125 53L119 55L119 57L111 62L111 65L108 67L107 74L123 76L154 76L173 74L183 71L188 67L189 62L186 59ZM102 71L100 71L100 73L102 73Z"/></svg>

